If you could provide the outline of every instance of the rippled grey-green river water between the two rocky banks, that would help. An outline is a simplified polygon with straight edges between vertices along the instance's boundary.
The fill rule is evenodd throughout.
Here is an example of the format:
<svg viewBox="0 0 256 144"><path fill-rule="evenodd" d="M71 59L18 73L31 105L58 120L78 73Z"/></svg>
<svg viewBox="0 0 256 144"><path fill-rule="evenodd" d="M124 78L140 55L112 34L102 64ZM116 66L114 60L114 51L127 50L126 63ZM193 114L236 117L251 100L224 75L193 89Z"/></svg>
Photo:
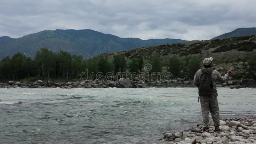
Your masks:
<svg viewBox="0 0 256 144"><path fill-rule="evenodd" d="M219 88L220 117L255 116L256 89ZM0 89L0 143L168 143L202 121L196 88Z"/></svg>

